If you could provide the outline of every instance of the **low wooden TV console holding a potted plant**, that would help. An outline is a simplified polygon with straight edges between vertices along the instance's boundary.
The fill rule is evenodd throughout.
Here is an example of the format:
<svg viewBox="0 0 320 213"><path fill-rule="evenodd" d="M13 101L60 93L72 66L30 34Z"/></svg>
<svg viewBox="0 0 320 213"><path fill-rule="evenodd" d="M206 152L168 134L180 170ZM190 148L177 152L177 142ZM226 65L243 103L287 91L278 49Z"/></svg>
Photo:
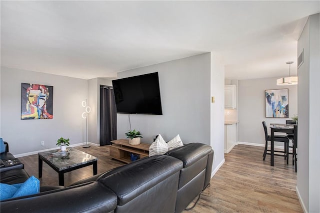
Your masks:
<svg viewBox="0 0 320 213"><path fill-rule="evenodd" d="M151 144L140 143L138 145L130 145L127 139L112 140L113 144L109 146L110 157L113 159L130 163L130 153L140 155L140 158L149 156L149 146Z"/></svg>

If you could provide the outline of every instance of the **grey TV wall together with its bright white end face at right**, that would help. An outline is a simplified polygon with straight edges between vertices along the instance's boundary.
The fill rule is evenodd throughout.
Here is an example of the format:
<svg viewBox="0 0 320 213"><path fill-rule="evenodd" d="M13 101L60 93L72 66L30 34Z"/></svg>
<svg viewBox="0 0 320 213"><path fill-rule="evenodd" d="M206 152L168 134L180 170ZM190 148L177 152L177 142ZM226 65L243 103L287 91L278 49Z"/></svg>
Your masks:
<svg viewBox="0 0 320 213"><path fill-rule="evenodd" d="M224 66L213 53L169 61L118 73L118 78L159 73L163 115L130 115L132 129L144 143L157 134L183 143L200 142L214 150L213 171L224 162ZM215 103L211 103L211 96ZM128 115L117 114L117 138L129 129Z"/></svg>

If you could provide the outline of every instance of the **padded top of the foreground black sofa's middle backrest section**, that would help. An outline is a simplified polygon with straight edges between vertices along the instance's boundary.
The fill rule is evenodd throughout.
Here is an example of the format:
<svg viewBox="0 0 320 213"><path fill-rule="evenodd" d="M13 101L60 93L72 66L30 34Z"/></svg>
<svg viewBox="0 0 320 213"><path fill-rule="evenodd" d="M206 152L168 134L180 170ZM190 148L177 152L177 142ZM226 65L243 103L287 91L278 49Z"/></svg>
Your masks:
<svg viewBox="0 0 320 213"><path fill-rule="evenodd" d="M123 205L179 172L182 166L182 162L174 157L152 156L115 168L103 174L98 181L114 191L118 205Z"/></svg>

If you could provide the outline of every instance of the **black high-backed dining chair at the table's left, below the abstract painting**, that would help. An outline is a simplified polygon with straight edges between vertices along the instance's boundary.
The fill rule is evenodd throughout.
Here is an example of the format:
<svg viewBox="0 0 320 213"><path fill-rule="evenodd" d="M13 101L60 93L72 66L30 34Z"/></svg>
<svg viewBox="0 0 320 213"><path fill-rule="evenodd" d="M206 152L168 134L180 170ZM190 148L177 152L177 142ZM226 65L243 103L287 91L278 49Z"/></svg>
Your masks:
<svg viewBox="0 0 320 213"><path fill-rule="evenodd" d="M265 156L267 154L270 154L271 150L267 149L268 147L268 141L271 141L271 135L268 134L267 129L266 129L266 124L265 121L262 121L262 126L264 130L264 136L265 136L265 146L264 146L264 152L263 152L263 160L265 160ZM286 135L279 135L279 134L274 134L274 141L277 142L283 142L284 144L284 151L279 151L279 150L274 150L274 152L277 153L283 153L283 154L276 154L274 153L275 156L283 156L284 159L286 159L286 164L289 164L289 138Z"/></svg>

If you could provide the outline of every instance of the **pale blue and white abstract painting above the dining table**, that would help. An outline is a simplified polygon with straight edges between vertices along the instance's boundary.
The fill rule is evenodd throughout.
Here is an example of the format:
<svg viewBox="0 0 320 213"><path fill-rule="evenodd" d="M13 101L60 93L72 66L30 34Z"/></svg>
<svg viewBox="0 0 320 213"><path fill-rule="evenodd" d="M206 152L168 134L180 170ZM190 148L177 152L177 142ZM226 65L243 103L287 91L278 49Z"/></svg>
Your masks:
<svg viewBox="0 0 320 213"><path fill-rule="evenodd" d="M265 90L265 117L289 117L288 89Z"/></svg>

